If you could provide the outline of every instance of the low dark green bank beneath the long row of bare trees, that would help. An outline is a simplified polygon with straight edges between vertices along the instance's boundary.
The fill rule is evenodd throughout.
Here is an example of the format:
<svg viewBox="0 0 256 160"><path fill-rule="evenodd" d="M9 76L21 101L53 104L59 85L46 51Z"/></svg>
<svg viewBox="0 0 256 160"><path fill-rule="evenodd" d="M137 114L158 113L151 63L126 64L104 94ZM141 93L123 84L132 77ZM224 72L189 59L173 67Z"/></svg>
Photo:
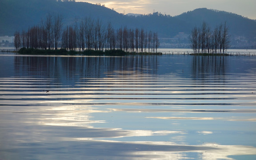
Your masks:
<svg viewBox="0 0 256 160"><path fill-rule="evenodd" d="M66 49L34 49L34 48L21 48L19 54L28 55L86 55L86 56L124 56L124 55L162 55L162 53L150 52L124 52L120 49L112 50L84 50L84 51L68 51Z"/></svg>

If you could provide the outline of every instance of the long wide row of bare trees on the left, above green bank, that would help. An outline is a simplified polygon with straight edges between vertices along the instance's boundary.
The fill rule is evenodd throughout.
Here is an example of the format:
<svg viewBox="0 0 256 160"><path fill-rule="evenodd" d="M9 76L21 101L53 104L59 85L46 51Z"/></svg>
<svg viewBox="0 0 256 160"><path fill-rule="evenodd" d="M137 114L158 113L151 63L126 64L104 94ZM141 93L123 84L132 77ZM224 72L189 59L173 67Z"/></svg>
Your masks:
<svg viewBox="0 0 256 160"><path fill-rule="evenodd" d="M111 23L104 25L100 19L91 17L76 20L63 26L63 18L48 14L40 25L27 31L15 32L15 48L67 50L120 49L125 52L157 52L159 40L156 32L127 27L114 29Z"/></svg>

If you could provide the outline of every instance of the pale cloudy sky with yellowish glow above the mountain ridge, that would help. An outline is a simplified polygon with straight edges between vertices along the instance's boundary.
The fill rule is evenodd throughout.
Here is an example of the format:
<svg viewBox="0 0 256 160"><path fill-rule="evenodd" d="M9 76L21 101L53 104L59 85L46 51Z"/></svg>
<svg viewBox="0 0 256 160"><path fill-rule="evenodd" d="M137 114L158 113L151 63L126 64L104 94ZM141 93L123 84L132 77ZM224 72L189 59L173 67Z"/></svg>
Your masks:
<svg viewBox="0 0 256 160"><path fill-rule="evenodd" d="M196 8L208 8L256 19L256 0L76 0L76 2L100 3L124 14L161 12L177 16Z"/></svg>

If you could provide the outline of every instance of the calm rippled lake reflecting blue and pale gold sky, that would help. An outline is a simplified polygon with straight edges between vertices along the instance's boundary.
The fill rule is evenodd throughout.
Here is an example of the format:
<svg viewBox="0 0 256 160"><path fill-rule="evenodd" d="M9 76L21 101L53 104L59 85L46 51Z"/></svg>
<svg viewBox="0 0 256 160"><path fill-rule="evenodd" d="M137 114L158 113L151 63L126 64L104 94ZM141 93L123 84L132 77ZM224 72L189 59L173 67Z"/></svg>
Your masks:
<svg viewBox="0 0 256 160"><path fill-rule="evenodd" d="M255 160L256 56L0 55L0 160Z"/></svg>

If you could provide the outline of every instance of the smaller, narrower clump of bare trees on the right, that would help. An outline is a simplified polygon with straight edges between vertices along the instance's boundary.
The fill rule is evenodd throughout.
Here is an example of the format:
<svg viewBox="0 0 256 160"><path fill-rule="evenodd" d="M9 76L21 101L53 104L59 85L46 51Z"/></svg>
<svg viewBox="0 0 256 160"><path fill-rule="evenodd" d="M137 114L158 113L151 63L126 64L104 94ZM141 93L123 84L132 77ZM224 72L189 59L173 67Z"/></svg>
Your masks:
<svg viewBox="0 0 256 160"><path fill-rule="evenodd" d="M192 29L190 42L194 53L224 53L230 43L226 22L214 30L203 22L201 27Z"/></svg>

